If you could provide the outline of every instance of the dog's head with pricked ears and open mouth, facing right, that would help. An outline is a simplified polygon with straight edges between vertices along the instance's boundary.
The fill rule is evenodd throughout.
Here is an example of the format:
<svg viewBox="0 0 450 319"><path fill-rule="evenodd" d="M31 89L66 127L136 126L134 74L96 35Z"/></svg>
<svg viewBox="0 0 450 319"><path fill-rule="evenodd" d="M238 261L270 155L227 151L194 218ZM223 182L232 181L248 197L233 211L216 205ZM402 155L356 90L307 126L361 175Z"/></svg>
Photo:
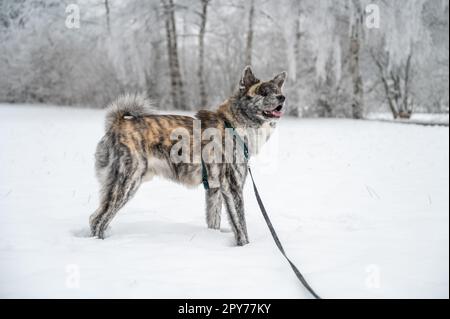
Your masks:
<svg viewBox="0 0 450 319"><path fill-rule="evenodd" d="M283 115L286 97L282 93L287 73L283 72L270 81L260 81L247 66L242 74L237 95L238 111L248 120L262 124L273 122Z"/></svg>

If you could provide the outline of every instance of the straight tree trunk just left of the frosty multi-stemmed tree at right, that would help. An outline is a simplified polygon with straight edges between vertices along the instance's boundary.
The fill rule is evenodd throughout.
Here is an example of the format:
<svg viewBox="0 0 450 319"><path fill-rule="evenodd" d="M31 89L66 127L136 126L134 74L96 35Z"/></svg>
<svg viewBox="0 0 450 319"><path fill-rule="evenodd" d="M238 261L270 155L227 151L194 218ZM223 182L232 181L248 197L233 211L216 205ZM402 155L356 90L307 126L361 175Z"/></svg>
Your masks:
<svg viewBox="0 0 450 319"><path fill-rule="evenodd" d="M350 74L353 83L352 116L354 119L362 119L364 109L364 86L361 76L360 61L363 15L359 0L353 0L353 5L355 7L356 17L350 37Z"/></svg>

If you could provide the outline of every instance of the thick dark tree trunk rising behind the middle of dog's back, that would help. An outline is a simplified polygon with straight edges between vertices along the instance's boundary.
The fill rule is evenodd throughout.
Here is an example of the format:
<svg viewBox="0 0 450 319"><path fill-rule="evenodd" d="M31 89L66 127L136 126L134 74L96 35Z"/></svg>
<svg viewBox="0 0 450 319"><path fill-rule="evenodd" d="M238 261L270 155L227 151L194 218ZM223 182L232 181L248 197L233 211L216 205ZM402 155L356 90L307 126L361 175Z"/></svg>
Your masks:
<svg viewBox="0 0 450 319"><path fill-rule="evenodd" d="M180 62L178 58L175 5L173 0L161 0L161 3L163 4L165 14L172 105L175 109L187 110L187 101L185 99Z"/></svg>

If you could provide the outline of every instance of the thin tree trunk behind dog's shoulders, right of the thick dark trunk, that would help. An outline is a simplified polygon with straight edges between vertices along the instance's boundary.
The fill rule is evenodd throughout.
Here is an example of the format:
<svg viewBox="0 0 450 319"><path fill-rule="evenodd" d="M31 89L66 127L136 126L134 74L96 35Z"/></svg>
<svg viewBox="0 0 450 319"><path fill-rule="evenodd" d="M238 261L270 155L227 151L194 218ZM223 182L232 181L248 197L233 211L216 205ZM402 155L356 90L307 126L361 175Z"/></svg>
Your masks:
<svg viewBox="0 0 450 319"><path fill-rule="evenodd" d="M200 106L208 106L208 94L205 84L205 33L208 19L208 4L210 0L200 0L202 4L200 32L198 35L198 84L200 89Z"/></svg>

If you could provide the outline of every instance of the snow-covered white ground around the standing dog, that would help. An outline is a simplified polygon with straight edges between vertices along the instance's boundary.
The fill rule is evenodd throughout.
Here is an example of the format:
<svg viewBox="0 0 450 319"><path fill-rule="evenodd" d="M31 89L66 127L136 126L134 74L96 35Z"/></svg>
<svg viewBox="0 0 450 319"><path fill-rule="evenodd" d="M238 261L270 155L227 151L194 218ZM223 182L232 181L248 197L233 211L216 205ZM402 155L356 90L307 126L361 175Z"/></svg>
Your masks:
<svg viewBox="0 0 450 319"><path fill-rule="evenodd" d="M0 106L0 297L305 298L250 184L251 244L203 189L145 184L88 238L103 111ZM276 147L274 147L276 146ZM449 297L449 129L281 121L255 178L285 249L324 298ZM273 154L272 154L273 155Z"/></svg>

